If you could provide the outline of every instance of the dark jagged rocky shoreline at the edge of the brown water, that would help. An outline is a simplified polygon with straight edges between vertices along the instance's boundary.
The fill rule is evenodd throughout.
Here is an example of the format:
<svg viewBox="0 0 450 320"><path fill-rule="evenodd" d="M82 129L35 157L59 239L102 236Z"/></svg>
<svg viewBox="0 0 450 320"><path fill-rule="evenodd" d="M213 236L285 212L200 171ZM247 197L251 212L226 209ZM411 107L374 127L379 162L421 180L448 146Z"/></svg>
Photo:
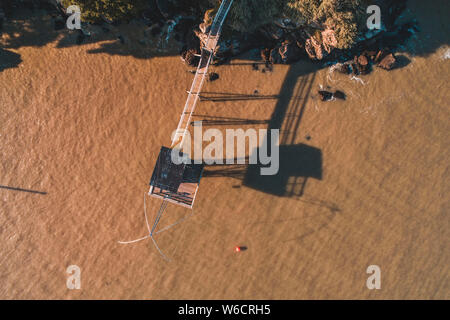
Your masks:
<svg viewBox="0 0 450 320"><path fill-rule="evenodd" d="M158 10L145 10L135 18L148 37L174 38L180 47L180 56L189 66L196 66L202 43L206 41L212 17L211 10L203 13L199 8L174 8L166 1L153 1ZM406 0L374 1L383 17L382 30L367 31L349 49L338 49L335 30L324 25L299 26L289 19L277 19L252 33L232 33L224 35L215 53L215 63L226 63L231 58L249 50L260 51L261 59L267 65L291 64L301 59L334 65L341 73L354 75L368 74L373 66L392 70L397 66L396 49L415 31L417 23L397 22L406 8ZM16 8L27 6L33 10L46 10L52 15L55 30L65 28L67 15L64 7L56 0L22 0L14 5L1 3L0 26L4 19ZM111 21L106 18L94 24L108 32L108 25L120 25L132 21ZM88 29L88 24L83 23ZM81 44L89 32L80 32L77 44ZM125 40L118 37L121 43ZM143 40L144 41L144 40Z"/></svg>

